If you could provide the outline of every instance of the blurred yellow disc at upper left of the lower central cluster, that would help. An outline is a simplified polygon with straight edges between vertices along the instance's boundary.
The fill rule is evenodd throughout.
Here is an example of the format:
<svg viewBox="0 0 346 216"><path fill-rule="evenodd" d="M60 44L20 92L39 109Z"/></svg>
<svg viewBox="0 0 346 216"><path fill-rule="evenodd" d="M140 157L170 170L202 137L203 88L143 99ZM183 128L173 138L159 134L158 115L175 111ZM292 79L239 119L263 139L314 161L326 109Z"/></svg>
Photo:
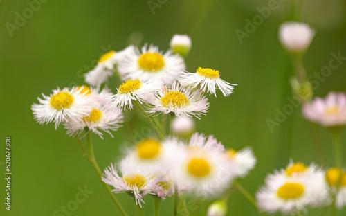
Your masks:
<svg viewBox="0 0 346 216"><path fill-rule="evenodd" d="M161 150L161 143L154 138L145 138L137 145L137 153L141 159L154 159Z"/></svg>

